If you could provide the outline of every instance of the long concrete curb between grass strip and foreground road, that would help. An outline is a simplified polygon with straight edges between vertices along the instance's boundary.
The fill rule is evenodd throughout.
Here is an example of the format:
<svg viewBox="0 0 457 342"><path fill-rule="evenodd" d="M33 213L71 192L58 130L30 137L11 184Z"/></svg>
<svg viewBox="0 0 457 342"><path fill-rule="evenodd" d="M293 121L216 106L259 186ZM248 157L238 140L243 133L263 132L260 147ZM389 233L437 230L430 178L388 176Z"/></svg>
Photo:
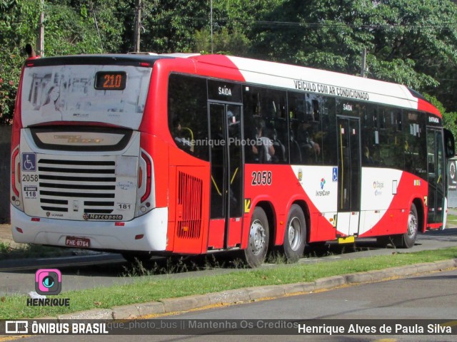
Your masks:
<svg viewBox="0 0 457 342"><path fill-rule="evenodd" d="M318 290L335 289L343 285L355 285L385 281L392 278L405 278L414 274L423 274L431 271L442 271L457 267L457 259L443 261L425 262L407 266L392 267L390 269L366 271L360 273L343 274L341 276L328 276L316 279L313 282L255 286L245 289L233 289L211 294L199 294L179 298L151 301L143 304L129 304L125 306L114 306L112 309L92 309L79 311L72 314L58 315L57 317L46 317L46 319L126 319L138 318L146 315L171 314L173 312L201 309L205 306L216 304L240 304L257 301L259 299L276 299L283 296L297 294L308 294ZM36 318L44 319L44 318Z"/></svg>

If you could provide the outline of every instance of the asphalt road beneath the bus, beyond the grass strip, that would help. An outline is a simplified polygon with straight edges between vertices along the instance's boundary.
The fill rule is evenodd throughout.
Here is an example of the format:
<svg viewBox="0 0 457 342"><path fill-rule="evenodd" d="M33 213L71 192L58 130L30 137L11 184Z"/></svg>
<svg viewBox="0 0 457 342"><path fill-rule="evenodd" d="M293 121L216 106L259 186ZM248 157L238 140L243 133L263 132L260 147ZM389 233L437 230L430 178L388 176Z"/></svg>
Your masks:
<svg viewBox="0 0 457 342"><path fill-rule="evenodd" d="M402 251L417 252L425 249L440 249L457 246L457 228L419 234L416 245L412 249ZM360 240L355 246L326 244L324 247L309 250L301 263L316 263L333 261L336 259L353 259L373 255L391 254L393 248L379 248L374 239ZM186 269L159 263L153 277L160 276L203 276L235 271L233 255L218 256L204 259L194 258L186 261ZM222 267L220 267L222 265ZM123 276L131 274L124 258L119 254L93 254L82 257L58 257L46 259L21 259L0 261L0 295L27 294L34 291L34 275L37 269L57 268L62 271L62 291L75 289L90 289L96 286L110 286L113 284L128 284L138 281L138 276ZM262 267L271 267L263 264ZM153 266L154 268L154 266ZM171 269L170 269L171 268ZM199 271L189 271L199 269ZM146 276L143 276L146 277Z"/></svg>

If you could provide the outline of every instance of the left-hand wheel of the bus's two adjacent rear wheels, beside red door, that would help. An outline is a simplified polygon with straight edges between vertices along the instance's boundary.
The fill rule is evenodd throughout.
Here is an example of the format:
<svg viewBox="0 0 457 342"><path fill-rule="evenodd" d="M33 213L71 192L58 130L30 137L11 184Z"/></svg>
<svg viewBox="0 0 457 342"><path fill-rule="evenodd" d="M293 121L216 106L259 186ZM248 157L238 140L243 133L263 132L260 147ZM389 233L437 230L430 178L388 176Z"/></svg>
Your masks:
<svg viewBox="0 0 457 342"><path fill-rule="evenodd" d="M251 217L248 247L243 251L246 264L253 269L261 266L265 260L270 239L268 231L266 214L261 207L256 207Z"/></svg>

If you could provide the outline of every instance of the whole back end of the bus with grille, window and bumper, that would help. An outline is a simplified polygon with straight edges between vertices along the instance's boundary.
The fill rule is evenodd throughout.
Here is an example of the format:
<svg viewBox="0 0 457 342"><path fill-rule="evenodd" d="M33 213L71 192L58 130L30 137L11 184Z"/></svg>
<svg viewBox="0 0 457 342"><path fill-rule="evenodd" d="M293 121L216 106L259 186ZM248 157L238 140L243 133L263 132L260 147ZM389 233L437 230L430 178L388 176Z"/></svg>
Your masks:
<svg viewBox="0 0 457 342"><path fill-rule="evenodd" d="M139 127L152 66L141 56L26 61L11 145L11 227L20 243L164 251L154 162ZM147 146L151 144L145 144Z"/></svg>

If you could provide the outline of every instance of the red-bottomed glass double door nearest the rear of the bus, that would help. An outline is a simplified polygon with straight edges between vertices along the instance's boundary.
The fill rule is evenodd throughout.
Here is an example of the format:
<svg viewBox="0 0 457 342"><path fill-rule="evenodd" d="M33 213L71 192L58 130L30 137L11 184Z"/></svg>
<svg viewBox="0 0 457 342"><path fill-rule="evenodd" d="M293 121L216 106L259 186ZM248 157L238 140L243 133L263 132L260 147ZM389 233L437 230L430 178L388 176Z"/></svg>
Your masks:
<svg viewBox="0 0 457 342"><path fill-rule="evenodd" d="M241 105L209 103L211 206L208 249L241 244L243 145Z"/></svg>

